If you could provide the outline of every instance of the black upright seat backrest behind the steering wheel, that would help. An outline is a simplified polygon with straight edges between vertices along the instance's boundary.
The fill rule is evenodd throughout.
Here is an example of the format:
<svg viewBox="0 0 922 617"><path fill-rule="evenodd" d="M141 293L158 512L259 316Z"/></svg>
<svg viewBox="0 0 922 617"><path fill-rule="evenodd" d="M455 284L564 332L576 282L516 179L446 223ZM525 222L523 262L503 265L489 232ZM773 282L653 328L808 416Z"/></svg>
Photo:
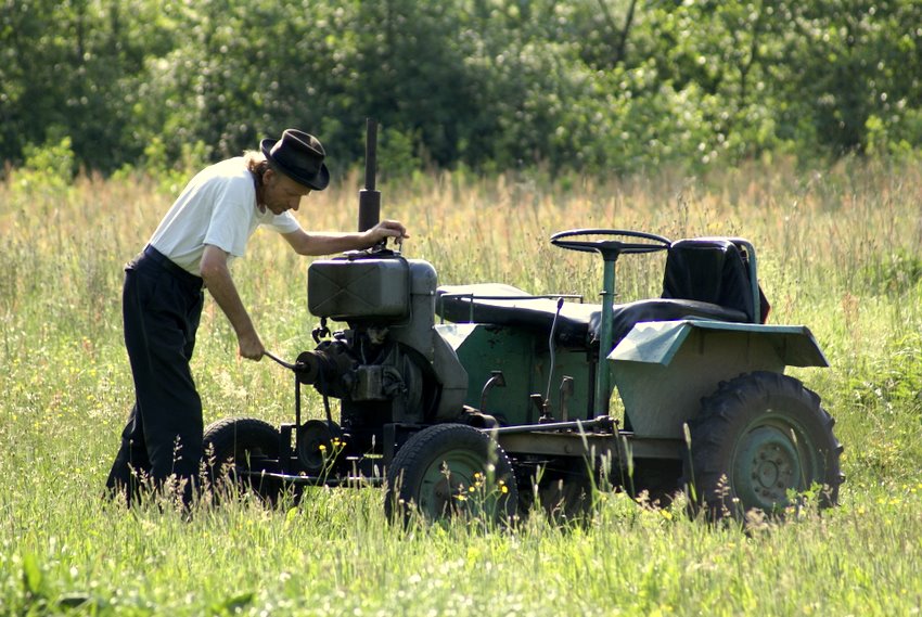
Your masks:
<svg viewBox="0 0 922 617"><path fill-rule="evenodd" d="M759 321L768 301L759 290ZM697 300L744 312L755 321L753 286L743 252L721 237L679 240L669 246L663 277L664 298Z"/></svg>

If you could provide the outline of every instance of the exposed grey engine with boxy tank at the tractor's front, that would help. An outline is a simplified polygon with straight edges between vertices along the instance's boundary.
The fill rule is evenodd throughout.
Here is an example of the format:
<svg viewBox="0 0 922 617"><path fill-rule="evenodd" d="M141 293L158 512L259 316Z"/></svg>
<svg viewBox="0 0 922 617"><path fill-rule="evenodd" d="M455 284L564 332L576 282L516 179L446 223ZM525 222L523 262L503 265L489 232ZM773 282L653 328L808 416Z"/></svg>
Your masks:
<svg viewBox="0 0 922 617"><path fill-rule="evenodd" d="M308 310L348 327L298 357L298 380L340 399L342 427L356 447L372 448L385 424L462 413L468 373L434 327L436 286L432 265L390 250L308 268Z"/></svg>

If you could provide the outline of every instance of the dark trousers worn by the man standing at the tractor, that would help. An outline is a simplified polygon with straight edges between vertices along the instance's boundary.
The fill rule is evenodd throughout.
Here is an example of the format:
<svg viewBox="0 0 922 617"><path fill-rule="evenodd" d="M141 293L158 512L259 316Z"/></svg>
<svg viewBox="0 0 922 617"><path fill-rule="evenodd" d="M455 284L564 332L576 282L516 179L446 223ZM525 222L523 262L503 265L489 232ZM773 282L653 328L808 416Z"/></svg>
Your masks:
<svg viewBox="0 0 922 617"><path fill-rule="evenodd" d="M106 480L130 504L144 483L184 481L189 502L202 461L202 400L189 361L202 316L202 279L153 247L125 268L125 347L135 380L135 406Z"/></svg>

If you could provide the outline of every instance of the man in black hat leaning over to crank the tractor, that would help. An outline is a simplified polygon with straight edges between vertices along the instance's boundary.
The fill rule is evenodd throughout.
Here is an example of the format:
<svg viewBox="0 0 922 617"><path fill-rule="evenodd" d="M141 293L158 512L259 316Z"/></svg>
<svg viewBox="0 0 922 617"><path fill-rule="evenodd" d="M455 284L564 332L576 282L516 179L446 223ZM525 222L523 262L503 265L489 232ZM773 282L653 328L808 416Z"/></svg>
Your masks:
<svg viewBox="0 0 922 617"><path fill-rule="evenodd" d="M146 248L126 266L125 346L135 406L121 434L106 488L130 504L142 483L174 478L189 503L202 461L202 401L189 362L206 287L236 333L240 355L266 352L228 268L243 257L259 226L282 234L300 255L329 255L402 239L397 221L361 233L307 233L289 210L330 182L320 141L287 129L260 152L230 158L196 175L161 221Z"/></svg>

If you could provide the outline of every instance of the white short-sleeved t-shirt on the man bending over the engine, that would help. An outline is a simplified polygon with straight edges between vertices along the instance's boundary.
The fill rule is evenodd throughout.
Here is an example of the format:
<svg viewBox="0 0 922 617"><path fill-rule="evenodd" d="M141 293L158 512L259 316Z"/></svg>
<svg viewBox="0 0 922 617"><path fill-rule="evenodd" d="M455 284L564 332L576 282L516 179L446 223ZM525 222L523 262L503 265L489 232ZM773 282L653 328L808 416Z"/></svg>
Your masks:
<svg viewBox="0 0 922 617"><path fill-rule="evenodd" d="M196 277L202 254L210 244L233 257L243 257L256 228L279 233L300 229L291 213L273 215L256 206L256 185L242 156L200 171L183 189L151 236L150 244L170 261Z"/></svg>

